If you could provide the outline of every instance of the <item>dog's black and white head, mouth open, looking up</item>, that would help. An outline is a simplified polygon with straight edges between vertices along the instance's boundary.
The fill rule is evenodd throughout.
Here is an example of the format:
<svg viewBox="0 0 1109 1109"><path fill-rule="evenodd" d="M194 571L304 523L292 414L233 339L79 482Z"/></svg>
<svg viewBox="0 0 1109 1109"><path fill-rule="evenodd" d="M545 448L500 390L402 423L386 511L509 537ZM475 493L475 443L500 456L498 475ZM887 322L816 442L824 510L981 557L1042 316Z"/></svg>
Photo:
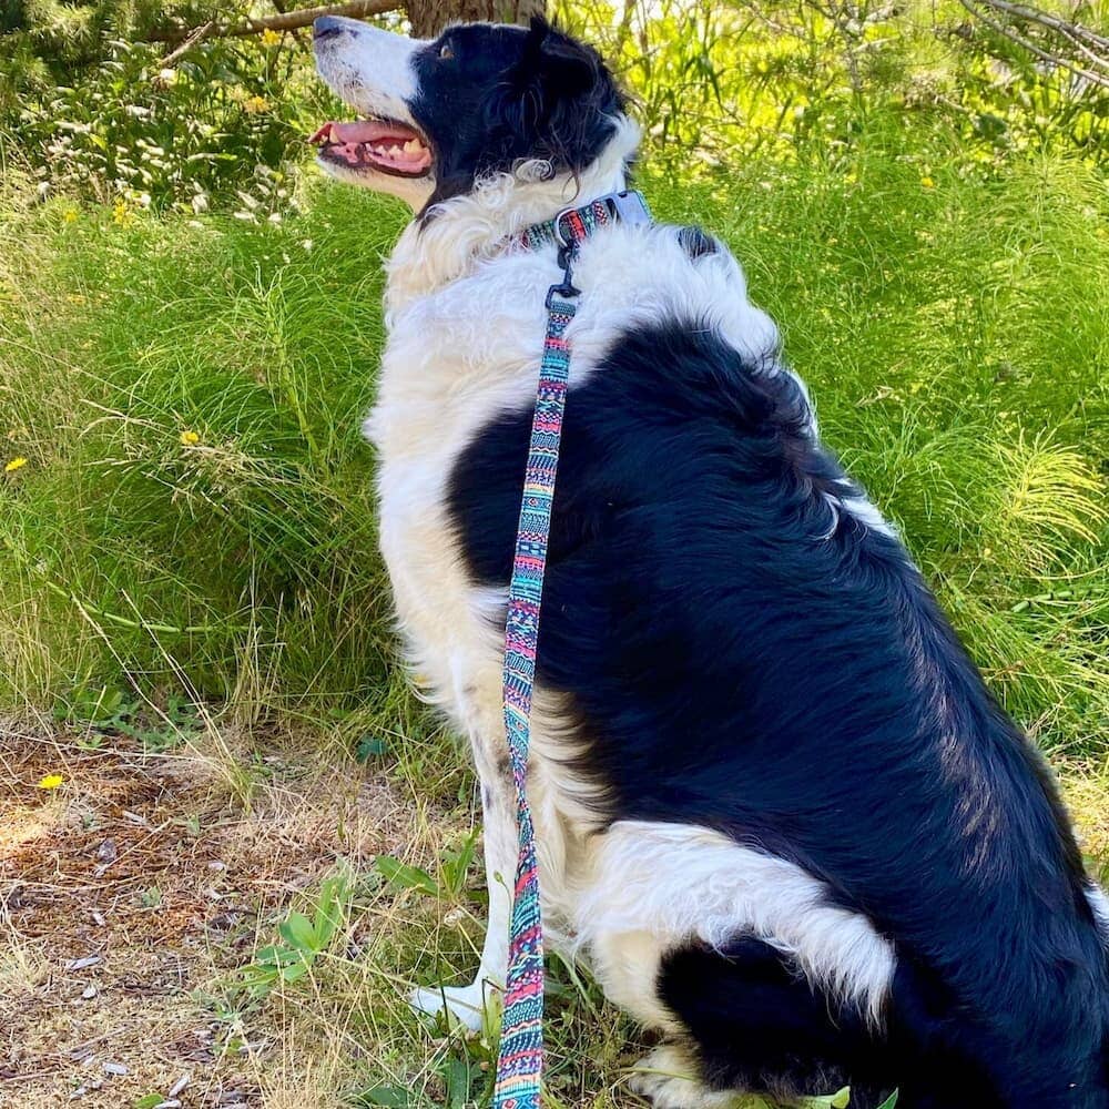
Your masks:
<svg viewBox="0 0 1109 1109"><path fill-rule="evenodd" d="M321 77L360 116L316 132L319 163L414 208L526 163L579 174L623 108L597 52L541 19L460 24L434 41L332 16L314 31Z"/></svg>

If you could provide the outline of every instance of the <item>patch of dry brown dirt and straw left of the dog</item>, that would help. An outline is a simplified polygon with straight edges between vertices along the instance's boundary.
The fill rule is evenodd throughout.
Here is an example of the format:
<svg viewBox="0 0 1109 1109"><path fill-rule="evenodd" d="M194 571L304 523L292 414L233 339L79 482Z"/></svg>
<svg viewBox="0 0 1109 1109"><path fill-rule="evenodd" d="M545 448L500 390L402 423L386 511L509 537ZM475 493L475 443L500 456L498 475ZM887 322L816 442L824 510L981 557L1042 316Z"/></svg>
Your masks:
<svg viewBox="0 0 1109 1109"><path fill-rule="evenodd" d="M247 798L218 755L112 744L0 733L0 1106L282 1103L223 984L337 858L403 848L405 806L307 751Z"/></svg>

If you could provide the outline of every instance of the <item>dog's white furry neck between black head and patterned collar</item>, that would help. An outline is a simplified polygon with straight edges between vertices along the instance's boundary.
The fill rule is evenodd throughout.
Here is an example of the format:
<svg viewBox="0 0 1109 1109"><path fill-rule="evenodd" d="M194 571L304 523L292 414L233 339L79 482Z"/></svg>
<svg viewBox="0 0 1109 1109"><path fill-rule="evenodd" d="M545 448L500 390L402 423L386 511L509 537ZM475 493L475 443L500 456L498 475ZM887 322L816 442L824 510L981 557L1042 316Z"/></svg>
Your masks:
<svg viewBox="0 0 1109 1109"><path fill-rule="evenodd" d="M548 163L525 162L512 173L486 177L472 192L437 204L429 218L410 223L386 266L386 323L410 301L502 253L507 242L532 224L623 189L638 144L639 128L621 118L604 153L577 177L542 180Z"/></svg>

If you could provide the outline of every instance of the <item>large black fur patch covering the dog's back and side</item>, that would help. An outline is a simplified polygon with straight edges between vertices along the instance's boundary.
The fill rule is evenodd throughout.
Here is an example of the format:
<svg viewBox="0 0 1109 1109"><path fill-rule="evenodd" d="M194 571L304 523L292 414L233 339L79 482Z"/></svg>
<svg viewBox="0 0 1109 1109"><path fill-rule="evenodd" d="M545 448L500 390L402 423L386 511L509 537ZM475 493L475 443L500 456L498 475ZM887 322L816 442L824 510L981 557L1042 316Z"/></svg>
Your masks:
<svg viewBox="0 0 1109 1109"><path fill-rule="evenodd" d="M530 409L503 415L452 474L476 581L508 582L529 428ZM873 1047L896 1072L861 1080L902 1085L905 1109L1109 1106L1106 946L1054 783L852 491L796 381L699 321L620 335L571 385L538 673L576 706L598 825L720 830L893 942L882 1044L827 999L803 1007L849 1026L834 1072ZM673 959L688 973L661 985L689 1022L711 1014L724 1074L743 991L728 1001L705 953ZM792 1027L781 975L757 974Z"/></svg>

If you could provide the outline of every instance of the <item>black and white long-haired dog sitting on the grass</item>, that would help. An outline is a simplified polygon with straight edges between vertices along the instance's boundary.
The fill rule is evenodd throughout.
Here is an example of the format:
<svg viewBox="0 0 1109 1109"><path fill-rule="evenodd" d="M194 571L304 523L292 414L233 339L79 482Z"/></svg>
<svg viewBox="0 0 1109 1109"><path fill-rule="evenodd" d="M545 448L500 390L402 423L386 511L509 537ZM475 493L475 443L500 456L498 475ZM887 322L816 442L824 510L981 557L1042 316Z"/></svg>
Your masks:
<svg viewBox="0 0 1109 1109"><path fill-rule="evenodd" d="M418 212L388 263L366 433L408 658L469 737L503 979L516 861L507 583L556 251L637 131L535 22L417 41L316 21L358 121L321 163ZM902 1109L1109 1106L1109 912L1056 788L904 546L822 446L720 244L581 246L530 796L548 940L663 1045L657 1109L854 1088Z"/></svg>

